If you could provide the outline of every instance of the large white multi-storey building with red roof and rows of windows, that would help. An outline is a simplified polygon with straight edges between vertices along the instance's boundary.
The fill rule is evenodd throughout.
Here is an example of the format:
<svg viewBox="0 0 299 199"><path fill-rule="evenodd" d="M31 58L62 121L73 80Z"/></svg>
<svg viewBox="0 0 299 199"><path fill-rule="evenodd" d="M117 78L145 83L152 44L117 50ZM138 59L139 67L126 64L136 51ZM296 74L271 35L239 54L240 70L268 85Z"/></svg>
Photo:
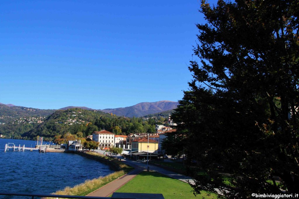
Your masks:
<svg viewBox="0 0 299 199"><path fill-rule="evenodd" d="M92 134L92 140L100 143L98 148L108 149L114 146L114 135L114 133L106 130L95 131Z"/></svg>

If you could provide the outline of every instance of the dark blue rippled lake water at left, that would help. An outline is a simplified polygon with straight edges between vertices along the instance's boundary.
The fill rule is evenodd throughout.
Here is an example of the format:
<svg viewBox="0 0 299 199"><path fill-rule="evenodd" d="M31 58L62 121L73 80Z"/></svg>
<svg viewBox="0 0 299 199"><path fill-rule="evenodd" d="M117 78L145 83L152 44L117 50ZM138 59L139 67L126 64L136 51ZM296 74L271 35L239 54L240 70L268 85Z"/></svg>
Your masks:
<svg viewBox="0 0 299 199"><path fill-rule="evenodd" d="M72 153L4 152L7 143L34 147L36 141L0 139L0 192L51 194L113 172L103 163Z"/></svg>

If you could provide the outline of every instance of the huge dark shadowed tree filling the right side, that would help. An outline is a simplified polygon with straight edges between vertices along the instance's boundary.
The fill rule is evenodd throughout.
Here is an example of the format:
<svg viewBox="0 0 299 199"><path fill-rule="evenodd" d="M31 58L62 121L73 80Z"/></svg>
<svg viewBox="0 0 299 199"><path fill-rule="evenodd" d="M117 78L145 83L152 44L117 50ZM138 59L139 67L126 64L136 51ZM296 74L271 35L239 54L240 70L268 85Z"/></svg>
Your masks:
<svg viewBox="0 0 299 199"><path fill-rule="evenodd" d="M195 194L298 192L298 10L297 1L202 1L200 62L190 61L193 81L172 115L187 157L209 176L194 175Z"/></svg>

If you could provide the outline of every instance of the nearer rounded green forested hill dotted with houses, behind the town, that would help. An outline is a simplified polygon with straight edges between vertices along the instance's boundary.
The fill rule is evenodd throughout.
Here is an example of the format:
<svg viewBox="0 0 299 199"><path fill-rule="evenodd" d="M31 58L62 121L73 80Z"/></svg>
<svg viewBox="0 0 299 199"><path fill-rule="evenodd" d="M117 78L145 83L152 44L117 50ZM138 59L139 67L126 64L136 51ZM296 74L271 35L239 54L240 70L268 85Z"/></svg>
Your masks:
<svg viewBox="0 0 299 199"><path fill-rule="evenodd" d="M57 110L37 127L22 134L24 139L35 139L37 135L52 141L55 135L83 133L83 137L98 130L108 130L115 134L155 132L155 120L126 118L97 110L67 109Z"/></svg>

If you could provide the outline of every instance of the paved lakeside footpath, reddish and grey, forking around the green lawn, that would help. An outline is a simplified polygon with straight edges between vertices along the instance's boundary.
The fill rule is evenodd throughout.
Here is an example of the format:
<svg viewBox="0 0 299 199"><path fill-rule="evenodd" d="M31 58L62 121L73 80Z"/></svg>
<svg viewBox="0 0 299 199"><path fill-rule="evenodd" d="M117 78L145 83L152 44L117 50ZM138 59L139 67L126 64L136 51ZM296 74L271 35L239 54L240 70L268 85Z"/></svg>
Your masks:
<svg viewBox="0 0 299 199"><path fill-rule="evenodd" d="M102 153L102 154L105 152L102 150L94 150L94 151L98 152L98 153ZM134 178L136 175L138 175L141 171L147 170L147 163L136 162L136 161L133 161L130 159L121 159L121 161L124 161L129 166L135 167L135 169L132 170L131 172L127 173L126 175L123 175L121 178L118 178L118 179L106 184L105 186L102 186L101 188L95 190L94 192L91 192L90 194L88 194L86 196L108 197L113 192L115 192L117 189L119 189L121 186L123 186L124 184L129 182L132 178ZM149 169L152 171L156 171L161 174L167 175L171 178L175 178L180 181L186 182L186 183L188 183L188 181L189 181L191 184L195 184L194 180L189 176L185 176L185 175L182 175L182 174L179 174L176 172L172 172L172 171L169 171L169 170L166 170L161 167L154 166L154 165L149 165Z"/></svg>

